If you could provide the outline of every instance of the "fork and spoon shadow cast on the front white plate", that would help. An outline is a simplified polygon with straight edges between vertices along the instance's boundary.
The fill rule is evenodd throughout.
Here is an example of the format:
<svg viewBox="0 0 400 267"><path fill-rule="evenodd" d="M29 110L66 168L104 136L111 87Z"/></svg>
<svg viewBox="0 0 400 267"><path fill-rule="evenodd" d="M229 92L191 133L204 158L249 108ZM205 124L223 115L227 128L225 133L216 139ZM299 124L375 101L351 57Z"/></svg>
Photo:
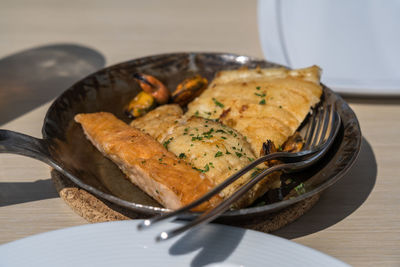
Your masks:
<svg viewBox="0 0 400 267"><path fill-rule="evenodd" d="M217 225L193 229L178 239L169 249L173 256L198 251L190 264L192 267L224 262L242 240L245 229L221 231Z"/></svg>

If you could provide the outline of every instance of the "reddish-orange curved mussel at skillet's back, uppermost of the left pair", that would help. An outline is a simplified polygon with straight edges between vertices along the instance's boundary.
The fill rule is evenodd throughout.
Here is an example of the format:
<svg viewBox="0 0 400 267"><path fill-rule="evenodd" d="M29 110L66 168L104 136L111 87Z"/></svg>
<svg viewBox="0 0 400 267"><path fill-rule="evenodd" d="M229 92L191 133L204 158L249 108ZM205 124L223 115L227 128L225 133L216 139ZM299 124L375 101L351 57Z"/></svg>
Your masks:
<svg viewBox="0 0 400 267"><path fill-rule="evenodd" d="M156 99L158 104L165 104L168 102L170 92L158 79L143 73L135 73L133 74L133 78L139 82L143 91L151 94Z"/></svg>

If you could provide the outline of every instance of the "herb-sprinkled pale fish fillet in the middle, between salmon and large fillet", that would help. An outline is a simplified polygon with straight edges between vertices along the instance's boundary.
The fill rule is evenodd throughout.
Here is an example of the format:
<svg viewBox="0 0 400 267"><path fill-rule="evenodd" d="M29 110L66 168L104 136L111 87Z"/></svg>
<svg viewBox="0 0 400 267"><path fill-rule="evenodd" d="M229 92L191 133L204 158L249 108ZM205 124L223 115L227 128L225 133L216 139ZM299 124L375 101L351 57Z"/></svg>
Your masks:
<svg viewBox="0 0 400 267"><path fill-rule="evenodd" d="M178 105L157 107L143 117L133 120L131 126L153 136L168 151L206 174L215 184L222 183L256 158L250 144L236 130L201 117L182 118L179 116L182 113L179 109ZM171 114L175 116L168 124L166 122L171 118ZM223 199L229 197L257 172L259 170L243 175L225 188L219 196ZM271 187L275 187L279 177L279 173L273 173L263 179L235 202L232 208L251 205Z"/></svg>

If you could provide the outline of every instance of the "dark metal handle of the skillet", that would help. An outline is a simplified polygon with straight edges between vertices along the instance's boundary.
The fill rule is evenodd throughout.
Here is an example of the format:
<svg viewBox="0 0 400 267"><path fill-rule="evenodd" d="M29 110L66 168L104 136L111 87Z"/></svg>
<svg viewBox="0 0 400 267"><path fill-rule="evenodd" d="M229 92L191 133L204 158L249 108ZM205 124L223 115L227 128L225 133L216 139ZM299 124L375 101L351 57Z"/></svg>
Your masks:
<svg viewBox="0 0 400 267"><path fill-rule="evenodd" d="M0 153L28 156L54 165L45 140L9 130L0 129Z"/></svg>

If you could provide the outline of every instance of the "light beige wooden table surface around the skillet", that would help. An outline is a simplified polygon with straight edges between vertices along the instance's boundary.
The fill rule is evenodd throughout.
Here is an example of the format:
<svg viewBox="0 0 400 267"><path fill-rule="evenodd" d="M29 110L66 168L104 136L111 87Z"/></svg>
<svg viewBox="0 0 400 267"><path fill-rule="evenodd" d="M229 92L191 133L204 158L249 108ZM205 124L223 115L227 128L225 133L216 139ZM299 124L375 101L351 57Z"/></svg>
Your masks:
<svg viewBox="0 0 400 267"><path fill-rule="evenodd" d="M52 100L103 66L174 51L263 56L256 1L2 1L0 40L0 128L36 137ZM400 266L400 99L345 99L363 133L356 163L274 234L355 266ZM86 223L49 167L0 155L0 243Z"/></svg>

